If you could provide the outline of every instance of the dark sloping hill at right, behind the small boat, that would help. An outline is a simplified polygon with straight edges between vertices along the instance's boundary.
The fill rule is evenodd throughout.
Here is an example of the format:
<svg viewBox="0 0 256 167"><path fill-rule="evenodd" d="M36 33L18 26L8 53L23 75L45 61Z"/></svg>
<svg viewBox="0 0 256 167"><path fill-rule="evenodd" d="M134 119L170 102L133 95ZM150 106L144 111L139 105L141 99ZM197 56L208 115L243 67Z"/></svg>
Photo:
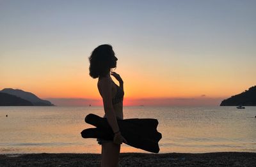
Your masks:
<svg viewBox="0 0 256 167"><path fill-rule="evenodd" d="M256 106L256 86L250 87L248 91L232 96L221 102L220 106Z"/></svg>

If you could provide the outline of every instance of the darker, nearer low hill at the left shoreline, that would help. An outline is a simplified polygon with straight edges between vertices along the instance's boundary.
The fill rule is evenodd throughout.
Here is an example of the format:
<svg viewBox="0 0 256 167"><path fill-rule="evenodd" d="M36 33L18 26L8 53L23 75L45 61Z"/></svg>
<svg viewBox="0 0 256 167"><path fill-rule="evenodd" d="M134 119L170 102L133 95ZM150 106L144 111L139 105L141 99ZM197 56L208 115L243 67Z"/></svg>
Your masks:
<svg viewBox="0 0 256 167"><path fill-rule="evenodd" d="M0 92L0 106L33 106L33 104L26 99Z"/></svg>

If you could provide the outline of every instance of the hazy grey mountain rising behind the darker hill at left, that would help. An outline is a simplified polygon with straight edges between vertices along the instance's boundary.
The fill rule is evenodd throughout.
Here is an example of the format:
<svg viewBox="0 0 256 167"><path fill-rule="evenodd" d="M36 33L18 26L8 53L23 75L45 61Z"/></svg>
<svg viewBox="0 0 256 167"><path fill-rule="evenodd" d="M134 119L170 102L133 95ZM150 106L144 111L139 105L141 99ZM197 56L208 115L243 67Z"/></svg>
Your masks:
<svg viewBox="0 0 256 167"><path fill-rule="evenodd" d="M54 106L50 101L40 99L35 94L31 92L25 92L20 89L5 88L0 92L11 94L13 96L17 96L19 98L30 101L34 106Z"/></svg>

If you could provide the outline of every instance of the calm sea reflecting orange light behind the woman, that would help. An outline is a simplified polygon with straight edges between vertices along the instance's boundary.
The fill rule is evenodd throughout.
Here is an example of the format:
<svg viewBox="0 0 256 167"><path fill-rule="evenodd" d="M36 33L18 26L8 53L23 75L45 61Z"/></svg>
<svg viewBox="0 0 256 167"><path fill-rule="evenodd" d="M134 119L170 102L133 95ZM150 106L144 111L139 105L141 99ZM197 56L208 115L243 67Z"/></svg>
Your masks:
<svg viewBox="0 0 256 167"><path fill-rule="evenodd" d="M0 107L0 154L100 153L96 139L80 132L92 127L88 113L102 107ZM8 114L8 117L5 115ZM125 118L156 118L163 134L160 152L256 152L256 107L124 107ZM121 152L145 152L123 144Z"/></svg>

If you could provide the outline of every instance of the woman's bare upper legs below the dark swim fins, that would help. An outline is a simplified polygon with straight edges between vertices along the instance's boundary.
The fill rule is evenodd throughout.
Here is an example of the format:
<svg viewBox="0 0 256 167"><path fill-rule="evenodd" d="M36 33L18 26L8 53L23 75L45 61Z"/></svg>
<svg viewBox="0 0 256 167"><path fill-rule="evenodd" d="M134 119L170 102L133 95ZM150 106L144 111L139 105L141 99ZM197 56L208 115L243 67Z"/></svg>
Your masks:
<svg viewBox="0 0 256 167"><path fill-rule="evenodd" d="M101 167L116 167L120 154L120 145L112 142L102 143L101 154Z"/></svg>

